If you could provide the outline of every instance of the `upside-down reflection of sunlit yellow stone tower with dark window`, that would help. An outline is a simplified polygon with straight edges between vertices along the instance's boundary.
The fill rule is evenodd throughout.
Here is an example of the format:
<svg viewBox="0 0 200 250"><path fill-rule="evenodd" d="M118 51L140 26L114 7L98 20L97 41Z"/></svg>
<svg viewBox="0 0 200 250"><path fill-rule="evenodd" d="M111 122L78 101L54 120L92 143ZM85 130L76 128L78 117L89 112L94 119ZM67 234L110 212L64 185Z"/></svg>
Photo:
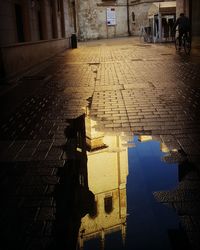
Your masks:
<svg viewBox="0 0 200 250"><path fill-rule="evenodd" d="M88 187L95 196L95 209L82 218L78 242L84 249L84 243L98 239L104 249L107 235L121 232L122 242L126 238L127 138L123 133L98 132L96 122L89 116L85 122Z"/></svg>

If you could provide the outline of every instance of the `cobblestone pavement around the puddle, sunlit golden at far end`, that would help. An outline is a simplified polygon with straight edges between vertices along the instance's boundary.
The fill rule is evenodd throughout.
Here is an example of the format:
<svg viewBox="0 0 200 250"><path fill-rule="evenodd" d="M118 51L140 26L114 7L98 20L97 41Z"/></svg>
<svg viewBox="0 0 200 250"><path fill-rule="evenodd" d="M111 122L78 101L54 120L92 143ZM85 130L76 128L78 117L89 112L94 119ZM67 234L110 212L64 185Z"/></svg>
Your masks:
<svg viewBox="0 0 200 250"><path fill-rule="evenodd" d="M156 136L169 149L177 149L169 161L179 161L184 154L192 174L173 195L156 196L173 203L192 246L199 249L199 82L199 53L185 56L171 44L126 38L80 43L78 49L60 53L2 92L4 249L13 249L13 244L21 250L48 246L57 171L64 164L66 120L83 114L88 105L97 129Z"/></svg>

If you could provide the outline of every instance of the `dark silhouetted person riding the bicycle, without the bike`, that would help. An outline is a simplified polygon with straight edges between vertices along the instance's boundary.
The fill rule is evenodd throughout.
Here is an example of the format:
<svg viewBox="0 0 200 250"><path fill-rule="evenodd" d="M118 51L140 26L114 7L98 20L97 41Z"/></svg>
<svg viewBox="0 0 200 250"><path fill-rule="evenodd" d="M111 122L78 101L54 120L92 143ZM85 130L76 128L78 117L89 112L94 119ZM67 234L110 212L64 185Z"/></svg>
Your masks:
<svg viewBox="0 0 200 250"><path fill-rule="evenodd" d="M176 20L173 30L175 30L177 26L179 32L178 38L179 38L179 49L180 49L183 35L185 34L185 36L188 37L188 32L190 32L190 21L189 18L184 15L184 13L181 13L179 18Z"/></svg>

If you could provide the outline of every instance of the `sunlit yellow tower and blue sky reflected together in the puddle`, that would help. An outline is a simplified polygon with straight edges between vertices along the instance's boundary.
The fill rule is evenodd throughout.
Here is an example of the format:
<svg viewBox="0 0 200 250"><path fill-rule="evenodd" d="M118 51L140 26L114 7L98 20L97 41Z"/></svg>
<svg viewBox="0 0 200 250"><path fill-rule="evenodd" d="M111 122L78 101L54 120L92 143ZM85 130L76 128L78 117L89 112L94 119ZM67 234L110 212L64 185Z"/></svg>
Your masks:
<svg viewBox="0 0 200 250"><path fill-rule="evenodd" d="M154 197L178 185L178 165L164 161L167 147L151 136L97 132L95 124L86 117L88 188L96 208L82 218L81 249L180 247L184 240L175 210Z"/></svg>

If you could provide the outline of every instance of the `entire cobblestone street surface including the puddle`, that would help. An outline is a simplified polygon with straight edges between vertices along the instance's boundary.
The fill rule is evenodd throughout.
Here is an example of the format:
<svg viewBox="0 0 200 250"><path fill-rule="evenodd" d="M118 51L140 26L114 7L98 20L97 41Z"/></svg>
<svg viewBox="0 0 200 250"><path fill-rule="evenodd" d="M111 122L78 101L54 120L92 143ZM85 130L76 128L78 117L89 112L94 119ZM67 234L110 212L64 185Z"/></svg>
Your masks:
<svg viewBox="0 0 200 250"><path fill-rule="evenodd" d="M91 41L7 86L4 250L199 250L199 59Z"/></svg>

